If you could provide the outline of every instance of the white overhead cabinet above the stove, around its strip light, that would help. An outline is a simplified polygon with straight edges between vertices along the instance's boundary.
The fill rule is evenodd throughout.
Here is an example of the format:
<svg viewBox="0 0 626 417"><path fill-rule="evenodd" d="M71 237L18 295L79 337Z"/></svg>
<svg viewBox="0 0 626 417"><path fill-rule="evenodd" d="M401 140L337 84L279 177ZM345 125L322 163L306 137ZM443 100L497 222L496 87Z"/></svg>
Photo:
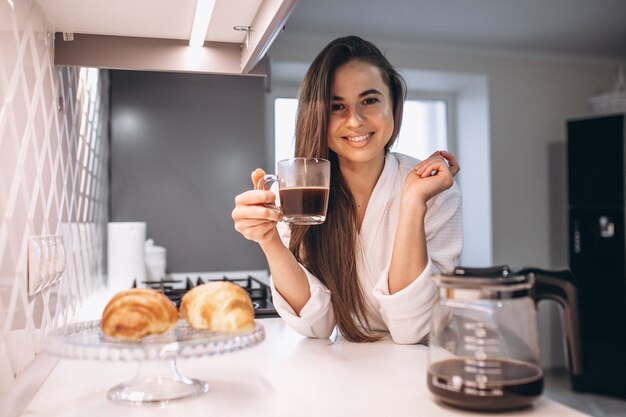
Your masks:
<svg viewBox="0 0 626 417"><path fill-rule="evenodd" d="M55 32L55 65L260 76L297 2L209 0L205 42L190 46L204 0L37 1Z"/></svg>

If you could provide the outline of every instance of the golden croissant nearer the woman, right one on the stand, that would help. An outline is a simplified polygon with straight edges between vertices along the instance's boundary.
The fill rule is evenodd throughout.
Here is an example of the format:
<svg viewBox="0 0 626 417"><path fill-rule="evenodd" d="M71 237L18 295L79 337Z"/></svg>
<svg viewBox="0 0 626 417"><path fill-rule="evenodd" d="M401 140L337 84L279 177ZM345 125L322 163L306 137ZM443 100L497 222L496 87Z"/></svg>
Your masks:
<svg viewBox="0 0 626 417"><path fill-rule="evenodd" d="M180 303L180 315L194 329L236 332L254 329L250 296L237 284L215 281L188 291Z"/></svg>

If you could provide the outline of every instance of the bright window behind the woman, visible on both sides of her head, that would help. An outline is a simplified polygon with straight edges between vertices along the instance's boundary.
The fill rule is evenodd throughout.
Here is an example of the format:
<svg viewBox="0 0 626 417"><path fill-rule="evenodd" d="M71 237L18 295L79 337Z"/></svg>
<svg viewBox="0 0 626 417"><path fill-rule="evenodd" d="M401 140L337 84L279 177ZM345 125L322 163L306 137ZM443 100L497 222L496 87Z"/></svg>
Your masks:
<svg viewBox="0 0 626 417"><path fill-rule="evenodd" d="M295 98L274 101L275 161L294 154L297 108ZM446 101L406 100L402 129L391 150L425 159L439 149L448 149Z"/></svg>

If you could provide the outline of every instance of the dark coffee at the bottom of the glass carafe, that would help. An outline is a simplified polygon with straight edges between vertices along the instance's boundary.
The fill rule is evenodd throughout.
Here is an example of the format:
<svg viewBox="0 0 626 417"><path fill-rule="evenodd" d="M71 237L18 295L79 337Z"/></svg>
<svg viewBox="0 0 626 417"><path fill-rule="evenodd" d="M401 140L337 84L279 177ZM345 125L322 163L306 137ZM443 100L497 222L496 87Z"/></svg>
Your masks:
<svg viewBox="0 0 626 417"><path fill-rule="evenodd" d="M470 410L526 407L543 391L541 368L507 359L447 359L430 365L427 378L438 400Z"/></svg>

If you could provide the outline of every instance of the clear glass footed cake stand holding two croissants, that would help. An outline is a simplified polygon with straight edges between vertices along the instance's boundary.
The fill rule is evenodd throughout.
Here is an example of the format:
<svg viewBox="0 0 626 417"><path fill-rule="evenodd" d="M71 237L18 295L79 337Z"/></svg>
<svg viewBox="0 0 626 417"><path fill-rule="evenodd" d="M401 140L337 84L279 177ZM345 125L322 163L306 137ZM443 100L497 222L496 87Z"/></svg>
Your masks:
<svg viewBox="0 0 626 417"><path fill-rule="evenodd" d="M100 321L95 320L51 332L44 346L47 353L62 358L138 361L135 377L111 388L107 397L122 404L160 404L209 391L205 381L178 372L177 358L221 355L255 346L265 339L263 325L255 324L251 331L226 333L195 330L179 320L167 333L123 341L104 336Z"/></svg>

